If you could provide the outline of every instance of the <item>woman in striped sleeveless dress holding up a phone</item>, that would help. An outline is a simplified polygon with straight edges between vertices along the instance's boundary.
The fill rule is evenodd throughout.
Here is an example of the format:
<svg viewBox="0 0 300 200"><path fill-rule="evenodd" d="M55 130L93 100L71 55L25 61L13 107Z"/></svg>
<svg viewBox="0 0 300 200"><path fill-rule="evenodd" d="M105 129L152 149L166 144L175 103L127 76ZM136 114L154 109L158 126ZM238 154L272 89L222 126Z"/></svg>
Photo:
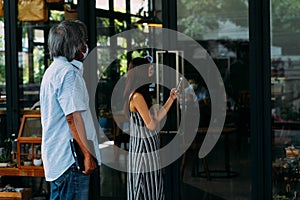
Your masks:
<svg viewBox="0 0 300 200"><path fill-rule="evenodd" d="M137 66L139 67L136 68ZM152 66L144 58L135 58L129 64L124 91L124 111L130 117L128 200L164 199L158 155L160 142L156 128L177 98L177 93L173 88L163 107L159 110L152 109L149 93L152 74ZM140 85L142 86L139 87ZM153 110L152 114L150 109Z"/></svg>

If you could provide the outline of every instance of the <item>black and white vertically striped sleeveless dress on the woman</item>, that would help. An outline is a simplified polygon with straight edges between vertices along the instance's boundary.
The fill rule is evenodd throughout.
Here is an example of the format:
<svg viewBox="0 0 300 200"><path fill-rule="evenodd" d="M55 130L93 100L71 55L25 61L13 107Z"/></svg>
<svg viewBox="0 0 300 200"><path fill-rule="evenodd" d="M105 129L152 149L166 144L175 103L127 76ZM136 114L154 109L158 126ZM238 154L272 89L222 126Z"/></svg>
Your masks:
<svg viewBox="0 0 300 200"><path fill-rule="evenodd" d="M159 148L157 132L145 126L138 112L130 112L128 200L164 199L160 158L156 152Z"/></svg>

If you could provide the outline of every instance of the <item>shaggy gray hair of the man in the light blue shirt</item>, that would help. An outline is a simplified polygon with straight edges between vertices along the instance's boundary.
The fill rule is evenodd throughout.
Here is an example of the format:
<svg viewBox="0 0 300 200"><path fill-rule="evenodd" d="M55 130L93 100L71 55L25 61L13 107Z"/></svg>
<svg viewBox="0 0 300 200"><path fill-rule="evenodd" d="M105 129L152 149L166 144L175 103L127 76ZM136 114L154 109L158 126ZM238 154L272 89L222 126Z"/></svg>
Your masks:
<svg viewBox="0 0 300 200"><path fill-rule="evenodd" d="M85 30L86 31L86 30ZM86 38L78 22L65 20L51 27L48 37L50 57L64 56L71 61L85 45Z"/></svg>

